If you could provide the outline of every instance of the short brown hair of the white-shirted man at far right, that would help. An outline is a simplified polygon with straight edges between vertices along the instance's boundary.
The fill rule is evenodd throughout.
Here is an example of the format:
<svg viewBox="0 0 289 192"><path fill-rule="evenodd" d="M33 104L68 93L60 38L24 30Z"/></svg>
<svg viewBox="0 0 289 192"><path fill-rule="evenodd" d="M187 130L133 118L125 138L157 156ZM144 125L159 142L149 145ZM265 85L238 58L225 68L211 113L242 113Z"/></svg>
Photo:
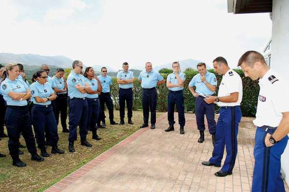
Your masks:
<svg viewBox="0 0 289 192"><path fill-rule="evenodd" d="M250 67L254 67L254 64L256 62L260 62L264 65L267 65L265 62L264 57L262 56L261 53L254 51L254 50L250 50L245 52L241 58L238 61L238 66L241 66L242 63L245 63L245 65L250 66Z"/></svg>

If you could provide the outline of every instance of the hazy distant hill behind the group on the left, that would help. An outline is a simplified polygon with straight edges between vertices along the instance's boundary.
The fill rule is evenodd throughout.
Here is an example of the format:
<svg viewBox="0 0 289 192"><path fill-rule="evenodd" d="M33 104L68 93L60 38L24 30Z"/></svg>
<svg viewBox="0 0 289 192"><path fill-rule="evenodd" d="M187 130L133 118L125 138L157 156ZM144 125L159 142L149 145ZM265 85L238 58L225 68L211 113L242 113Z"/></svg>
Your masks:
<svg viewBox="0 0 289 192"><path fill-rule="evenodd" d="M21 63L25 65L54 65L62 68L71 67L73 60L64 56L39 56L38 54L0 53L0 63Z"/></svg>

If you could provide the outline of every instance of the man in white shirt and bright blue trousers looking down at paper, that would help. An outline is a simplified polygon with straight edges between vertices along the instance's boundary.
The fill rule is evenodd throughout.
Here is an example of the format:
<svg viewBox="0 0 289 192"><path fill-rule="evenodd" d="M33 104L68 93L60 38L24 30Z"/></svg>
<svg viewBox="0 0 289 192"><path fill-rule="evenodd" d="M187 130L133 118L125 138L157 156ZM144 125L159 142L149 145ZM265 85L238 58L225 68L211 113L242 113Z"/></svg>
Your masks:
<svg viewBox="0 0 289 192"><path fill-rule="evenodd" d="M226 145L227 156L223 167L215 173L215 176L225 177L231 175L237 157L237 135L238 126L241 121L241 108L243 86L242 79L238 73L230 69L223 57L217 57L213 61L214 70L223 75L218 91L218 96L205 98L208 104L218 102L220 116L216 127L216 141L212 157L209 161L203 161L204 166L221 167Z"/></svg>

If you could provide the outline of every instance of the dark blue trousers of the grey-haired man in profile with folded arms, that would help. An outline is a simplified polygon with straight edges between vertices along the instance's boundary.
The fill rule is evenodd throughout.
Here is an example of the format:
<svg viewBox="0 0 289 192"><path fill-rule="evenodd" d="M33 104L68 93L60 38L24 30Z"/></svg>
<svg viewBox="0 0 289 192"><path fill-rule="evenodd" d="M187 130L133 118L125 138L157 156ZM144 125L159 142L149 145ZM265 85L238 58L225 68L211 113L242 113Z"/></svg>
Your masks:
<svg viewBox="0 0 289 192"><path fill-rule="evenodd" d="M77 140L77 126L81 140L86 140L88 104L86 98L72 98L69 105L69 142Z"/></svg>

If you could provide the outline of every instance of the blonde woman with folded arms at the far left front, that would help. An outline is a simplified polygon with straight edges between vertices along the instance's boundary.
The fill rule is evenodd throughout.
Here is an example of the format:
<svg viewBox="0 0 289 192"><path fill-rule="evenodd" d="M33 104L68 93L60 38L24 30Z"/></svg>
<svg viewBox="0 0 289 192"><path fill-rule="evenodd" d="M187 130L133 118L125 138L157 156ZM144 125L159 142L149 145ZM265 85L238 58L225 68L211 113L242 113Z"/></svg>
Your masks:
<svg viewBox="0 0 289 192"><path fill-rule="evenodd" d="M32 132L31 118L28 111L27 99L31 97L28 85L21 79L17 79L19 68L16 64L8 64L2 75L1 93L7 103L5 124L8 133L9 154L13 159L13 165L25 167L26 163L19 159L19 136L22 133L31 160L43 161L37 154L35 139Z"/></svg>

